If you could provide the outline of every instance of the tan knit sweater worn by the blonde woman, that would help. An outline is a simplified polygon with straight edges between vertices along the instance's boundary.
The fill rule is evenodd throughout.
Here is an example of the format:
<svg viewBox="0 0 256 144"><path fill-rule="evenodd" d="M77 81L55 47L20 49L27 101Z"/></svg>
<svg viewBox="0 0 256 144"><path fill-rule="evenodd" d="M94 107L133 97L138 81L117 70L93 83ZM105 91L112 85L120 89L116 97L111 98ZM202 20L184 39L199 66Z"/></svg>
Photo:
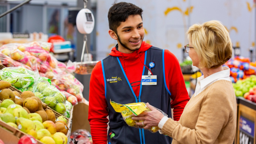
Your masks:
<svg viewBox="0 0 256 144"><path fill-rule="evenodd" d="M172 144L232 144L237 104L232 83L219 80L192 97L179 121L169 118L162 132Z"/></svg>

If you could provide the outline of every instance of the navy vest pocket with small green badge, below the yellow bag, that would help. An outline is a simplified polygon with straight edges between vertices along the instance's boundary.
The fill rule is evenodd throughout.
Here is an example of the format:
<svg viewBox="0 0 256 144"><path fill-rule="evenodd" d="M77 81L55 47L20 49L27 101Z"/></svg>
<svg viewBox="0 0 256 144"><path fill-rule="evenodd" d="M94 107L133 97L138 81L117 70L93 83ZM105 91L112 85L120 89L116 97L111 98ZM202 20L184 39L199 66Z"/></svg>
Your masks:
<svg viewBox="0 0 256 144"><path fill-rule="evenodd" d="M111 144L125 144L125 124L124 121L109 124L108 142Z"/></svg>

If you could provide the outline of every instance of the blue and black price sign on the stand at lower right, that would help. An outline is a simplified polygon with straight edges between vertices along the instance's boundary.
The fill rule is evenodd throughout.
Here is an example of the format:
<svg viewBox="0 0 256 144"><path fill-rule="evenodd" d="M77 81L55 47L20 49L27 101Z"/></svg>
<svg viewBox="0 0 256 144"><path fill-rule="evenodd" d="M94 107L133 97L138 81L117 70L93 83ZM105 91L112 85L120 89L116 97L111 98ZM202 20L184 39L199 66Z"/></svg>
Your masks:
<svg viewBox="0 0 256 144"><path fill-rule="evenodd" d="M254 122L240 116L239 119L239 143L240 144L253 144L254 141Z"/></svg>

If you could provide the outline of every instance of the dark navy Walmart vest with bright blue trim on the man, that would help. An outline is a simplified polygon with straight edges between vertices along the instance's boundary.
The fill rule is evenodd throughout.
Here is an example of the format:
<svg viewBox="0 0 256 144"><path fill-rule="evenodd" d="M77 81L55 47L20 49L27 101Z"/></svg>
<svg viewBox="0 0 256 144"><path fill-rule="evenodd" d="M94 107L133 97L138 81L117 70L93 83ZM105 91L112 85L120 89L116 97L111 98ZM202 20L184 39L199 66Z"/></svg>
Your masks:
<svg viewBox="0 0 256 144"><path fill-rule="evenodd" d="M101 60L105 97L109 110L108 144L171 144L172 138L159 132L151 133L148 130L128 126L121 113L115 112L110 104L110 99L120 104L148 102L171 118L171 93L165 83L164 50L152 46L145 51L144 64L148 66L150 62L155 63L151 71L153 75L157 75L157 85L140 85L140 95L137 98L119 58L108 56ZM145 69L145 66L141 75L148 75L148 69ZM115 78L117 80L110 81Z"/></svg>

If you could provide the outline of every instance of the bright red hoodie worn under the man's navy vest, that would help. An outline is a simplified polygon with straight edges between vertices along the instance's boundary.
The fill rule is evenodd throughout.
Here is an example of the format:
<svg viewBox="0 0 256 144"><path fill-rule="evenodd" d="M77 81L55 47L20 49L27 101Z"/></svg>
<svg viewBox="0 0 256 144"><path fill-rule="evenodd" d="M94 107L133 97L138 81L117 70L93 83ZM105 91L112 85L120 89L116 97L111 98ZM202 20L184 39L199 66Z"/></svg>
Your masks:
<svg viewBox="0 0 256 144"><path fill-rule="evenodd" d="M131 54L125 54L116 50L116 47L113 47L109 54L114 57L119 57L123 69L125 70L125 74L133 86L132 88L136 96L139 96L140 92L145 51L150 47L151 45L143 41L140 49L138 50L140 57L138 56L137 51L134 51ZM174 120L178 121L189 100L189 96L179 62L168 50L165 50L165 76L166 85L172 94L170 98L172 99L171 108L174 108L173 117ZM107 123L109 121L107 116L108 105L105 98L101 61L99 61L91 73L89 93L88 120L91 125L93 144L103 144L107 142Z"/></svg>

